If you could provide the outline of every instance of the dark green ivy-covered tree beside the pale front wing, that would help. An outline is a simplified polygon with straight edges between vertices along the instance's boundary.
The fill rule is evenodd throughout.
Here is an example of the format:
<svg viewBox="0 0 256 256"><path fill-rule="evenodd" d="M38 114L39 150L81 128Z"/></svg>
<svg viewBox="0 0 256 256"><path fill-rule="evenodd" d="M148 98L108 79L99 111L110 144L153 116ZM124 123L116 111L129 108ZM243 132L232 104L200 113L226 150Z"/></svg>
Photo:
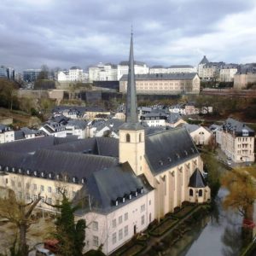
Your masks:
<svg viewBox="0 0 256 256"><path fill-rule="evenodd" d="M64 256L83 255L85 239L85 220L79 219L75 224L74 212L79 209L79 205L73 207L69 201L65 189L58 188L62 201L60 205L50 205L61 211L55 222L55 233L53 234L58 242L58 253ZM47 203L49 205L49 203Z"/></svg>

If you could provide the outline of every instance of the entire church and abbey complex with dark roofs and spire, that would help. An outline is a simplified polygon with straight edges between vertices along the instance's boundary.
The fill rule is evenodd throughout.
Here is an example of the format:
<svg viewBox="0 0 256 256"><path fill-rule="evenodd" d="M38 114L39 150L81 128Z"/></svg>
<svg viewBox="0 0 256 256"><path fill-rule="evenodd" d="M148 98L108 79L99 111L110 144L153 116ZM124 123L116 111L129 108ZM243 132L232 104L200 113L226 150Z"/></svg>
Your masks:
<svg viewBox="0 0 256 256"><path fill-rule="evenodd" d="M38 137L0 145L0 186L23 201L40 193L44 211L54 211L44 201L59 203L58 187L65 187L70 199L83 200L76 218L88 226L84 252L101 246L107 255L183 201L209 201L202 170L185 128L152 133L138 121L132 34L119 139Z"/></svg>

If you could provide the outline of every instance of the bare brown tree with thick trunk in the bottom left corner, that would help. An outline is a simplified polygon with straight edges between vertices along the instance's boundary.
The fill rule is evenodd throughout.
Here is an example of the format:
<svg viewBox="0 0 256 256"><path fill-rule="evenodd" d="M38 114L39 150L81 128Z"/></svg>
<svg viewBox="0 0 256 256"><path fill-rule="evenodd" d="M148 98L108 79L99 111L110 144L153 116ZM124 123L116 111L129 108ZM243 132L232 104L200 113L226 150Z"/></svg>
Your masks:
<svg viewBox="0 0 256 256"><path fill-rule="evenodd" d="M26 203L24 200L16 198L14 190L3 187L0 189L2 195L0 197L0 218L15 224L19 233L16 255L26 256L29 251L26 244L26 232L30 225L34 223L31 215L42 198L39 194L37 200Z"/></svg>

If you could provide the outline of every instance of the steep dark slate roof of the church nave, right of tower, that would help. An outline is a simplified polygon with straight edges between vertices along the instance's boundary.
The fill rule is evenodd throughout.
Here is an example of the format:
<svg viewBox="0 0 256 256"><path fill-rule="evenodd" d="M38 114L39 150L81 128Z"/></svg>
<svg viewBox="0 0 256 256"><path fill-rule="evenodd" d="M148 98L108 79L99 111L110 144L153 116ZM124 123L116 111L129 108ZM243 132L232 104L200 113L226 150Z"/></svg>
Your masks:
<svg viewBox="0 0 256 256"><path fill-rule="evenodd" d="M148 135L145 151L154 175L199 155L189 132L183 127Z"/></svg>

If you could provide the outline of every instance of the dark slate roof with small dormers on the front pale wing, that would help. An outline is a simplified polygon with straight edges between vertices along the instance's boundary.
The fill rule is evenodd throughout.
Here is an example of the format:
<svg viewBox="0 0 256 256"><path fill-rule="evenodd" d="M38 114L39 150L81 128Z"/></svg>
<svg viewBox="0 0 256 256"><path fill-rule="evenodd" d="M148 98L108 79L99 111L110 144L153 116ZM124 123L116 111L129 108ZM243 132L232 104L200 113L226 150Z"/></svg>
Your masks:
<svg viewBox="0 0 256 256"><path fill-rule="evenodd" d="M143 188L143 194L141 189ZM142 176L136 176L128 162L111 166L104 170L93 172L88 178L87 185L84 190L85 195L92 195L92 207L96 212L112 212L125 204L136 200L151 191L153 188L148 184L147 179ZM129 195L137 191L137 197ZM125 202L122 201L125 197ZM118 206L115 201L118 200ZM88 205L84 207L84 211L88 210Z"/></svg>

